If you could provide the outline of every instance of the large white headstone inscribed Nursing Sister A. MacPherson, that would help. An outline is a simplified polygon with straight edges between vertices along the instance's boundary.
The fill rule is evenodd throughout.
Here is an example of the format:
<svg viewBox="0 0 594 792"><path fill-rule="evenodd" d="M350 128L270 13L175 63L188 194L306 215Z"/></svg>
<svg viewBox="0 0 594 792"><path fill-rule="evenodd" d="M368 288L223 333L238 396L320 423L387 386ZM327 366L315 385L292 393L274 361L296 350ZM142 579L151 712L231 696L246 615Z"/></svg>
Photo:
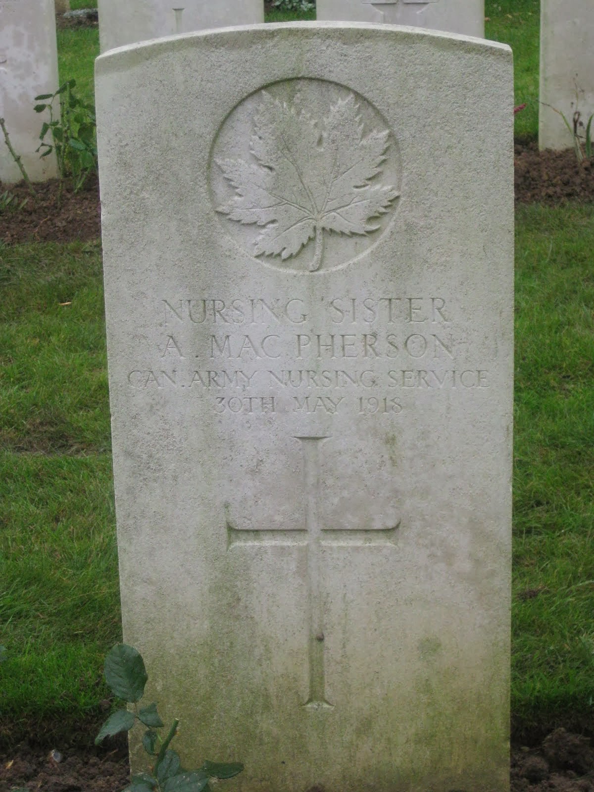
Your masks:
<svg viewBox="0 0 594 792"><path fill-rule="evenodd" d="M96 96L124 640L183 763L505 792L511 51L259 25Z"/></svg>

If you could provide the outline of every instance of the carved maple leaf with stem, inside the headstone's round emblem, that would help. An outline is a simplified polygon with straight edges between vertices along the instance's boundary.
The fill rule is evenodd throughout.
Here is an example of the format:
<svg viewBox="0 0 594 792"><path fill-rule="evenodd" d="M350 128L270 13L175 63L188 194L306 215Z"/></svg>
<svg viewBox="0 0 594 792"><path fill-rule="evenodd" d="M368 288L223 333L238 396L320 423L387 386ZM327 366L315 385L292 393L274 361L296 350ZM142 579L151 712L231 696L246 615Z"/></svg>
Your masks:
<svg viewBox="0 0 594 792"><path fill-rule="evenodd" d="M218 159L236 194L217 211L263 227L255 255L295 256L315 238L313 272L322 265L324 231L368 234L399 193L372 184L389 146L387 131L364 134L351 93L322 124L305 110L262 92L249 150L253 161Z"/></svg>

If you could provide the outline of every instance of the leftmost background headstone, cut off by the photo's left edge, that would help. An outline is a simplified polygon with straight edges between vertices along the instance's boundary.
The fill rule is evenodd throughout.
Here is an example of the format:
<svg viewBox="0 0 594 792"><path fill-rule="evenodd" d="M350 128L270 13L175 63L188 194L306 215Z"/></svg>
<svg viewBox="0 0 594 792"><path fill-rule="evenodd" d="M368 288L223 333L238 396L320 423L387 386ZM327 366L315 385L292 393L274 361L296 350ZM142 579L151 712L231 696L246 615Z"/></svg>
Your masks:
<svg viewBox="0 0 594 792"><path fill-rule="evenodd" d="M57 175L55 156L40 159L36 148L46 113L34 97L58 88L54 0L0 0L0 118L32 181ZM59 104L55 107L59 112ZM0 181L21 181L21 171L0 133Z"/></svg>

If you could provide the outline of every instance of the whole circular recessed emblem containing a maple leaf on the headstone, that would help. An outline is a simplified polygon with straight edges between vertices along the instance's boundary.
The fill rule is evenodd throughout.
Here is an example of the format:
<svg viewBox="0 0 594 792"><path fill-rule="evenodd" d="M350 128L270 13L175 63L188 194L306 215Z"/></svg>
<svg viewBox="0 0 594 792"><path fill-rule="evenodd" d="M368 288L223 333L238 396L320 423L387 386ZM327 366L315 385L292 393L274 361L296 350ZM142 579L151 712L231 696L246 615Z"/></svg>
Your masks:
<svg viewBox="0 0 594 792"><path fill-rule="evenodd" d="M224 229L280 269L319 272L375 245L400 196L398 143L359 93L324 80L276 82L224 120L210 183Z"/></svg>

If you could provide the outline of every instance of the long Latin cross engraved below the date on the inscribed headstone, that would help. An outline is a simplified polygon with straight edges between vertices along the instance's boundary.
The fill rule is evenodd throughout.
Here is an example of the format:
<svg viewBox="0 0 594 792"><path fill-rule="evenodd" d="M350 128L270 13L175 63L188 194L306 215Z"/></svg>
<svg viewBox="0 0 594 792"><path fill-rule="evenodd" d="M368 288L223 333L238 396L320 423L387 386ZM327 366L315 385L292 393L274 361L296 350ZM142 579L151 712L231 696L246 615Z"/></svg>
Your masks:
<svg viewBox="0 0 594 792"><path fill-rule="evenodd" d="M298 530L258 528L247 531L234 528L227 520L227 549L234 546L275 545L307 548L310 694L303 705L312 710L332 707L326 699L324 665L324 608L322 593L322 547L324 546L390 546L395 544L394 527L352 529L323 527L319 517L320 447L328 436L296 437L303 449L303 487L306 493L305 525Z"/></svg>

